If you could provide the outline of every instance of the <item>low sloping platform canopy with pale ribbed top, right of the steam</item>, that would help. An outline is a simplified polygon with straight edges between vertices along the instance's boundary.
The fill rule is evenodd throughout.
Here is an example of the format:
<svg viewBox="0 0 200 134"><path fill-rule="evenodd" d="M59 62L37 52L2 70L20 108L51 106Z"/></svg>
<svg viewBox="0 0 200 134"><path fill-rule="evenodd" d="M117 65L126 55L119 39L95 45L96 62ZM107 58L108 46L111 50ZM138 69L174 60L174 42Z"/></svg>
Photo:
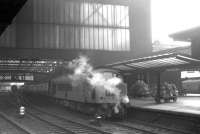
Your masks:
<svg viewBox="0 0 200 134"><path fill-rule="evenodd" d="M102 68L116 70L121 73L130 73L134 71L159 71L169 68L189 68L197 66L200 66L200 60L198 59L181 54L167 53L107 64L102 66Z"/></svg>

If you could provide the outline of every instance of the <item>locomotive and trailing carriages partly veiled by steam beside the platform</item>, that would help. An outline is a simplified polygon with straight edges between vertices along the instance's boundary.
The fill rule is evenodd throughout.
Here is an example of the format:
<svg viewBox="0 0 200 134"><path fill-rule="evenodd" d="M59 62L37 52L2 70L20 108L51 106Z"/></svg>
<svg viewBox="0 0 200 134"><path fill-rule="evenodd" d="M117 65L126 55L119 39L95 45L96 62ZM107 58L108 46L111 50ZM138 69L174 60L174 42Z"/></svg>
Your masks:
<svg viewBox="0 0 200 134"><path fill-rule="evenodd" d="M126 108L129 104L127 85L116 72L95 71L92 75L100 76L100 81L93 80L94 76L90 76L91 74L87 77L81 75L73 80L70 75L61 74L46 82L26 83L22 87L23 91L51 97L70 109L100 115L103 118L126 116Z"/></svg>

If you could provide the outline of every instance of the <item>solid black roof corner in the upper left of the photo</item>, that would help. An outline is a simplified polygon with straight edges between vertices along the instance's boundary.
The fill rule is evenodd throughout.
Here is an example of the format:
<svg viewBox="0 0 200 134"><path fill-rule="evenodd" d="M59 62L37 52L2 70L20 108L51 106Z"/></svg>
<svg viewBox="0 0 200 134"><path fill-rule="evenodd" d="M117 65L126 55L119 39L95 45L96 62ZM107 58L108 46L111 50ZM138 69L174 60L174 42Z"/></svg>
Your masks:
<svg viewBox="0 0 200 134"><path fill-rule="evenodd" d="M0 0L0 35L27 0Z"/></svg>

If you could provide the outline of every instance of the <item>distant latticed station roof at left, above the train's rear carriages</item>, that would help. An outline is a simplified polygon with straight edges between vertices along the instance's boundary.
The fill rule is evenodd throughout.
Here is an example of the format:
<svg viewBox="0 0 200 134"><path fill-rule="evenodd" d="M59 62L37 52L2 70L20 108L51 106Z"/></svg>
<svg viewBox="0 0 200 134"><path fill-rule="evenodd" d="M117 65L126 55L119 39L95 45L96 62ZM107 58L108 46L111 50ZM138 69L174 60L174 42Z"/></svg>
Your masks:
<svg viewBox="0 0 200 134"><path fill-rule="evenodd" d="M63 63L48 59L0 59L0 72L50 73Z"/></svg>

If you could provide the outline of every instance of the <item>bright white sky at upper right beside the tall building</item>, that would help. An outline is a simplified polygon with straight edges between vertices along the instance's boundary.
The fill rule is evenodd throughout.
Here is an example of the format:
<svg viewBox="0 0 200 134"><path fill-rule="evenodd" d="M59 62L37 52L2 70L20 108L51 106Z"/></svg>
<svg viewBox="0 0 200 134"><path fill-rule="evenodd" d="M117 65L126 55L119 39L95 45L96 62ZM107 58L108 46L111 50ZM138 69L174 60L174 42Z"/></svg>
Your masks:
<svg viewBox="0 0 200 134"><path fill-rule="evenodd" d="M199 5L200 0L151 0L152 42L188 45L168 35L200 26Z"/></svg>

